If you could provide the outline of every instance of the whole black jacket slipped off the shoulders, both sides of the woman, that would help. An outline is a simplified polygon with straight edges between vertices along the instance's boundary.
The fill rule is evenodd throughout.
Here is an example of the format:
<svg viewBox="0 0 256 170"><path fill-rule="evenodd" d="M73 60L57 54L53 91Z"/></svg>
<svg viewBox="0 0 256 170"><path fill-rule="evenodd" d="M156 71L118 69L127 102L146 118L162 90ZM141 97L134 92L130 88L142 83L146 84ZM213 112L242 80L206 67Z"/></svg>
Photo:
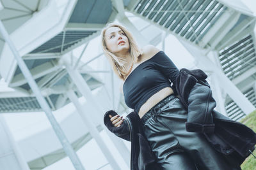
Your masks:
<svg viewBox="0 0 256 170"><path fill-rule="evenodd" d="M230 120L213 110L216 106L211 89L205 80L207 75L200 69L189 71L180 69L175 85L175 94L188 108L186 131L202 132L218 152L236 158L241 164L255 149L256 134L239 122ZM157 169L156 158L144 136L138 113L132 111L120 127L113 127L108 115L116 115L109 110L104 115L104 124L116 136L131 141L131 169Z"/></svg>

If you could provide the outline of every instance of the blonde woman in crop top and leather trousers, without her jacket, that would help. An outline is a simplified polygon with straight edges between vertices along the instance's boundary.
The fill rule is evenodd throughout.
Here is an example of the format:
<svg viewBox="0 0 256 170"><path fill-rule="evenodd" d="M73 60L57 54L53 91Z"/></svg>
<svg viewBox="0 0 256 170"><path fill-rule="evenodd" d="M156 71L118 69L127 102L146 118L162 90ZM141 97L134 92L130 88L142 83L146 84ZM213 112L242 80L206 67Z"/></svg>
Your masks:
<svg viewBox="0 0 256 170"><path fill-rule="evenodd" d="M113 23L102 30L102 46L124 81L125 103L140 116L161 169L241 169L214 150L202 133L186 131L188 114L171 86L180 71L163 51L152 45L139 48L131 32ZM109 119L114 127L124 122L119 115Z"/></svg>

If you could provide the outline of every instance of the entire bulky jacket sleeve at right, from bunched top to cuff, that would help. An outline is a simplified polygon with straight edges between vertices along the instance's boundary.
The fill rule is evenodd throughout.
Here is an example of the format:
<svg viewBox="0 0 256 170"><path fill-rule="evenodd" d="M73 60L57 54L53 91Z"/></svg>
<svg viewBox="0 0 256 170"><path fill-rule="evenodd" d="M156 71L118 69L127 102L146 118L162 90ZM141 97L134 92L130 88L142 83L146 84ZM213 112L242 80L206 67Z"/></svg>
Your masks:
<svg viewBox="0 0 256 170"><path fill-rule="evenodd" d="M205 78L207 75L200 69L180 69L180 75L177 76L176 91L189 113L186 122L188 132L214 132L212 110L216 102Z"/></svg>

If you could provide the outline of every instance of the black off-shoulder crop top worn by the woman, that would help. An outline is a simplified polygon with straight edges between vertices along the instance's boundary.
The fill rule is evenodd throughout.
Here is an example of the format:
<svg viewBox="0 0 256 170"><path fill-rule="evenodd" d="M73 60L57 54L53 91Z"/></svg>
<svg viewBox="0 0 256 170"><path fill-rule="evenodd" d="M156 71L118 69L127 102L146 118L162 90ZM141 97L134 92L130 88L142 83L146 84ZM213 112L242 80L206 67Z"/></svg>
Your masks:
<svg viewBox="0 0 256 170"><path fill-rule="evenodd" d="M163 52L142 62L126 78L123 85L125 103L139 112L140 107L156 92L175 85L179 69Z"/></svg>

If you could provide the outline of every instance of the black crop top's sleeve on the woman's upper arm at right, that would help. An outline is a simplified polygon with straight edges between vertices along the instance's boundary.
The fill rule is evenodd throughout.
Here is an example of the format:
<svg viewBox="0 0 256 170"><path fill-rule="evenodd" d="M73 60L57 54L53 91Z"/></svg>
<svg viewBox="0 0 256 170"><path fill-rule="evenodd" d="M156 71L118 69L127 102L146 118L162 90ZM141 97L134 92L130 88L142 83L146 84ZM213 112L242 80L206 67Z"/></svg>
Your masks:
<svg viewBox="0 0 256 170"><path fill-rule="evenodd" d="M152 57L151 60L154 67L164 74L166 78L171 80L173 86L176 85L176 78L179 76L180 71L172 60L163 51L160 51L155 57ZM175 90L174 87L173 90Z"/></svg>

